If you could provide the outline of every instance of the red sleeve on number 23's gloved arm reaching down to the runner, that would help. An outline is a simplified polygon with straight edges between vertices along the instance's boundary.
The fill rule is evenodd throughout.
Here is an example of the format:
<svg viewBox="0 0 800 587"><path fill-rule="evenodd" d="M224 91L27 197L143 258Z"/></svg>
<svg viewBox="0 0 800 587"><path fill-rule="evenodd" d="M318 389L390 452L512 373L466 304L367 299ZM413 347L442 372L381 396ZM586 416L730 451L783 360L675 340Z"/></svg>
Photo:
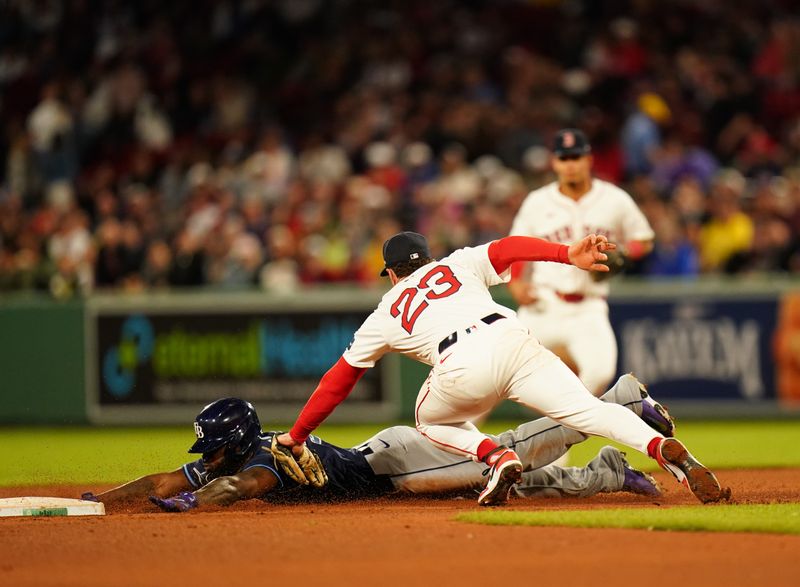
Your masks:
<svg viewBox="0 0 800 587"><path fill-rule="evenodd" d="M301 444L308 435L325 421L330 413L336 409L355 387L366 369L353 367L340 357L336 364L328 369L317 385L317 389L308 398L306 405L297 417L297 421L289 431L295 442Z"/></svg>

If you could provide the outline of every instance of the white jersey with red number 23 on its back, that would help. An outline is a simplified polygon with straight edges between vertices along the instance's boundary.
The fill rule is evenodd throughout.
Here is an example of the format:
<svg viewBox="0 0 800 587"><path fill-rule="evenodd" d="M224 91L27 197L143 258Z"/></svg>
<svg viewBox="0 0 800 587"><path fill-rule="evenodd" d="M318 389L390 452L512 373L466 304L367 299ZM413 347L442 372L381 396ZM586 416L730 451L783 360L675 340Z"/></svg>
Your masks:
<svg viewBox="0 0 800 587"><path fill-rule="evenodd" d="M388 352L432 365L439 343L489 314L515 314L497 304L488 287L505 283L489 261L489 245L459 249L400 280L356 331L342 355L353 367L369 368Z"/></svg>

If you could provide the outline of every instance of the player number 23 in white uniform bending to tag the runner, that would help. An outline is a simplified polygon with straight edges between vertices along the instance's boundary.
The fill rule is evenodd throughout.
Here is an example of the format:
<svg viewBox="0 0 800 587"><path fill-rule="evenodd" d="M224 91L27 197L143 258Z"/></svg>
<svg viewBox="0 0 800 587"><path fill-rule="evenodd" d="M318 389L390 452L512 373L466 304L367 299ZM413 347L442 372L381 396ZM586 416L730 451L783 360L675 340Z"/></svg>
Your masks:
<svg viewBox="0 0 800 587"><path fill-rule="evenodd" d="M502 504L522 479L514 449L482 434L480 421L510 399L584 434L605 436L654 458L702 502L726 492L714 474L674 438L665 438L625 408L592 396L580 379L545 349L488 287L506 282L518 261L549 261L608 271L605 251L615 245L588 235L562 245L511 236L431 257L424 236L401 232L383 246L393 287L356 331L339 361L323 376L292 429L276 443L291 448L314 474L305 441L342 402L364 372L395 351L432 366L416 401L417 430L439 449L489 466L480 505Z"/></svg>

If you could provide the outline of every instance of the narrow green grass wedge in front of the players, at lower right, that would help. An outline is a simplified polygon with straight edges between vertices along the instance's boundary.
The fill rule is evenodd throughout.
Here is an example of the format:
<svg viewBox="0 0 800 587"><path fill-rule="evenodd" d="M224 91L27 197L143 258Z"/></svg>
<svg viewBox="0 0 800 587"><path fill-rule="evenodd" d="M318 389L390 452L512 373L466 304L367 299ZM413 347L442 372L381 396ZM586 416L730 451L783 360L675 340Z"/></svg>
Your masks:
<svg viewBox="0 0 800 587"><path fill-rule="evenodd" d="M532 512L491 510L459 514L456 519L502 526L800 534L800 504L796 503Z"/></svg>

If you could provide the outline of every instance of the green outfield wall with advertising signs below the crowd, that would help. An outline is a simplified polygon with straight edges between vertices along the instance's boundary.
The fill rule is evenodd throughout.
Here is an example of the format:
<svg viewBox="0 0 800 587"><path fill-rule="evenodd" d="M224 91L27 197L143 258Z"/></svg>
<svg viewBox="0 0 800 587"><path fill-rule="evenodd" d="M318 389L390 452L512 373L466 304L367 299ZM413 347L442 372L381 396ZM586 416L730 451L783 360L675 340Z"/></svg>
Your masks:
<svg viewBox="0 0 800 587"><path fill-rule="evenodd" d="M618 371L684 418L800 416L799 291L776 280L615 283ZM0 299L0 424L182 423L224 395L288 422L382 293ZM510 305L504 288L495 294ZM387 357L332 421L410 419L426 374Z"/></svg>

